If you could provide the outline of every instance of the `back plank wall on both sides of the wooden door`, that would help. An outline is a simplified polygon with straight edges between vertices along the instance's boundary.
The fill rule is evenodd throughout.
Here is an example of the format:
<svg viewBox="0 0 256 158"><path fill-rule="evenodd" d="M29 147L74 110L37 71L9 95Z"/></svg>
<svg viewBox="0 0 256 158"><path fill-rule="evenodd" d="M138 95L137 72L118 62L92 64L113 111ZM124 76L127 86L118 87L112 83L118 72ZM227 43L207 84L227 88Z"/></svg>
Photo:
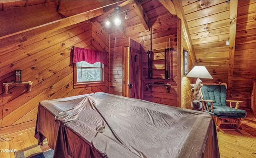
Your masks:
<svg viewBox="0 0 256 158"><path fill-rule="evenodd" d="M156 9L156 8L155 8ZM165 8L164 8L165 9ZM157 10L157 9L156 9ZM156 11L156 10L152 10ZM163 8L159 8L163 10ZM166 48L166 38L173 39L174 51L172 52L172 78L173 79L161 79L161 74L157 74L159 78L146 79L148 77L148 56L143 54L143 99L158 102L167 105L177 106L177 18L164 10L160 16L152 17L154 14L147 13L152 24L152 50L158 51ZM150 11L148 11L150 12ZM137 17L134 17L134 21ZM123 38L120 32L114 32L110 34L110 93L122 95L122 74L123 74L123 56L124 48L128 46L128 38L142 43L144 50L148 51L148 31L145 30L141 23L126 28L126 36ZM159 54L160 55L160 54ZM157 69L155 67L155 69ZM154 74L153 74L154 75ZM166 93L164 86L153 87L152 91L148 91L146 88L147 83L163 82L164 84L171 84L170 93Z"/></svg>

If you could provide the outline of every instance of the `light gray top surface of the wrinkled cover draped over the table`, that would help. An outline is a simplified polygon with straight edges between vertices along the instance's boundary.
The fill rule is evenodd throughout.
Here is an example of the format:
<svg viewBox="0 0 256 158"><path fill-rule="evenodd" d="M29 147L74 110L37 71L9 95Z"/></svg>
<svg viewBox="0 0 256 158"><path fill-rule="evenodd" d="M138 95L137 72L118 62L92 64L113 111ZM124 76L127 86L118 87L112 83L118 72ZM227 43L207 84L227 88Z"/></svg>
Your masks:
<svg viewBox="0 0 256 158"><path fill-rule="evenodd" d="M103 92L40 104L109 158L198 158L214 125L205 112ZM219 157L214 137L212 153Z"/></svg>

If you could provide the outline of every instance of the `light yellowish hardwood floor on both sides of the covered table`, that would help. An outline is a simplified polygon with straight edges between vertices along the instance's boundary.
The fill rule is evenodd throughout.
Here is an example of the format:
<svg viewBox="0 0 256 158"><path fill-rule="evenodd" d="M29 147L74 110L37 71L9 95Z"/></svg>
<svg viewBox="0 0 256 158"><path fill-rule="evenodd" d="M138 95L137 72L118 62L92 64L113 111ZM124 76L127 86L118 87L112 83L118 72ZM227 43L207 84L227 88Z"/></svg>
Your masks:
<svg viewBox="0 0 256 158"><path fill-rule="evenodd" d="M247 110L247 117L243 119L242 134L236 131L225 132L217 132L221 158L256 158L256 118L250 110ZM34 128L2 138L10 141L1 140L1 149L21 150L37 144ZM14 158L14 153L0 152L0 158Z"/></svg>

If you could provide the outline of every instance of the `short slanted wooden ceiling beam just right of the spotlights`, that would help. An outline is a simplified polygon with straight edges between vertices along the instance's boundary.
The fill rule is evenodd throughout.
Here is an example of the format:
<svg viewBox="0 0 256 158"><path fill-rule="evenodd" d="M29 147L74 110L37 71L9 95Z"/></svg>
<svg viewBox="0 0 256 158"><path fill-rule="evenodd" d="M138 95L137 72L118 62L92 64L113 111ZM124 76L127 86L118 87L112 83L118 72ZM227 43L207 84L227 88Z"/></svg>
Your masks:
<svg viewBox="0 0 256 158"><path fill-rule="evenodd" d="M138 17L140 18L145 30L148 30L149 19L142 5L140 4L140 1L135 0L132 3L132 6L134 7L135 12L138 14Z"/></svg>

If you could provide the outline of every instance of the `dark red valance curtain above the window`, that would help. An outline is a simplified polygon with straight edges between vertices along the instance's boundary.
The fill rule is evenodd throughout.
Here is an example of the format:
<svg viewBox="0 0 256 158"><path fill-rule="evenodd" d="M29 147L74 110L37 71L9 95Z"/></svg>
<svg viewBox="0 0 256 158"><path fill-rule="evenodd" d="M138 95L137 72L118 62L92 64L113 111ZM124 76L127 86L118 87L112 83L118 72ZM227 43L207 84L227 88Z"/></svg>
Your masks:
<svg viewBox="0 0 256 158"><path fill-rule="evenodd" d="M108 64L107 53L100 52L98 50L90 50L86 48L74 48L73 63L86 61L90 64L95 62L101 62L103 64Z"/></svg>

